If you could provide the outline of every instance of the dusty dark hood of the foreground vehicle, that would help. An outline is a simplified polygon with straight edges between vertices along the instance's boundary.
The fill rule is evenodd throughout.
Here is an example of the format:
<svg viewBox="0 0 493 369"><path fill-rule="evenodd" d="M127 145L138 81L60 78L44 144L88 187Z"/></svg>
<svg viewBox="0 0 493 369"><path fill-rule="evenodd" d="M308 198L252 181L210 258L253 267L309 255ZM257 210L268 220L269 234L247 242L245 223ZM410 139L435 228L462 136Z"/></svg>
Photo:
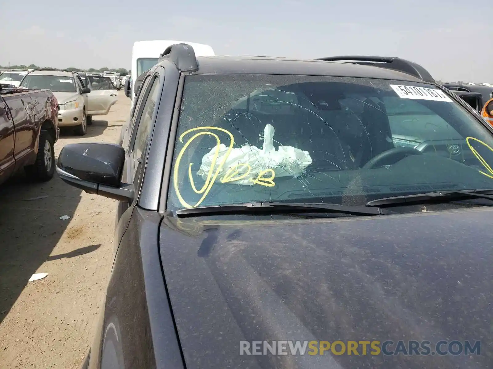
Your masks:
<svg viewBox="0 0 493 369"><path fill-rule="evenodd" d="M488 207L287 221L165 217L160 253L186 367L491 368L492 217ZM479 340L481 351L373 356L359 345L358 356L240 355L240 341L263 340L394 341L387 351L399 340L431 341L431 351L440 340Z"/></svg>

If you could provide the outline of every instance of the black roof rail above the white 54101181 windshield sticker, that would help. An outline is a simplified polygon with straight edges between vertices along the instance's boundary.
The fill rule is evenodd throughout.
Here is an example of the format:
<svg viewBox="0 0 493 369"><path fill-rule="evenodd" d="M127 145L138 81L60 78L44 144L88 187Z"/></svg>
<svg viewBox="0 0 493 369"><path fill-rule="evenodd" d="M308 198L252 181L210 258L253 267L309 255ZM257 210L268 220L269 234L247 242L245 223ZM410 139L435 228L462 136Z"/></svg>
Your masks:
<svg viewBox="0 0 493 369"><path fill-rule="evenodd" d="M372 65L381 68L398 70L417 77L425 82L435 82L431 74L428 73L420 64L410 62L405 59L395 57L369 57L369 56L340 56L340 57L327 57L318 58L317 60L324 60L328 62L347 61L353 64Z"/></svg>

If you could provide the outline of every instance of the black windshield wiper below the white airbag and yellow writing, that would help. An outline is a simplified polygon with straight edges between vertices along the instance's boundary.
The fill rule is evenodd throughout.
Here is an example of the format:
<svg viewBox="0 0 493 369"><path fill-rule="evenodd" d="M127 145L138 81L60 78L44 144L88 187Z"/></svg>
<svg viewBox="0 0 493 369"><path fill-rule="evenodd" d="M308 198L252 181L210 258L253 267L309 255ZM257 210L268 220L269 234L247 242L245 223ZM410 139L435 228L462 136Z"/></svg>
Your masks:
<svg viewBox="0 0 493 369"><path fill-rule="evenodd" d="M380 208L369 208L367 206L345 206L339 204L323 203L298 203L298 202L247 202L244 204L226 204L200 206L198 208L187 208L176 211L179 217L201 216L213 214L231 213L286 213L286 212L319 212L319 213L342 213L352 215L387 215L394 214Z"/></svg>

